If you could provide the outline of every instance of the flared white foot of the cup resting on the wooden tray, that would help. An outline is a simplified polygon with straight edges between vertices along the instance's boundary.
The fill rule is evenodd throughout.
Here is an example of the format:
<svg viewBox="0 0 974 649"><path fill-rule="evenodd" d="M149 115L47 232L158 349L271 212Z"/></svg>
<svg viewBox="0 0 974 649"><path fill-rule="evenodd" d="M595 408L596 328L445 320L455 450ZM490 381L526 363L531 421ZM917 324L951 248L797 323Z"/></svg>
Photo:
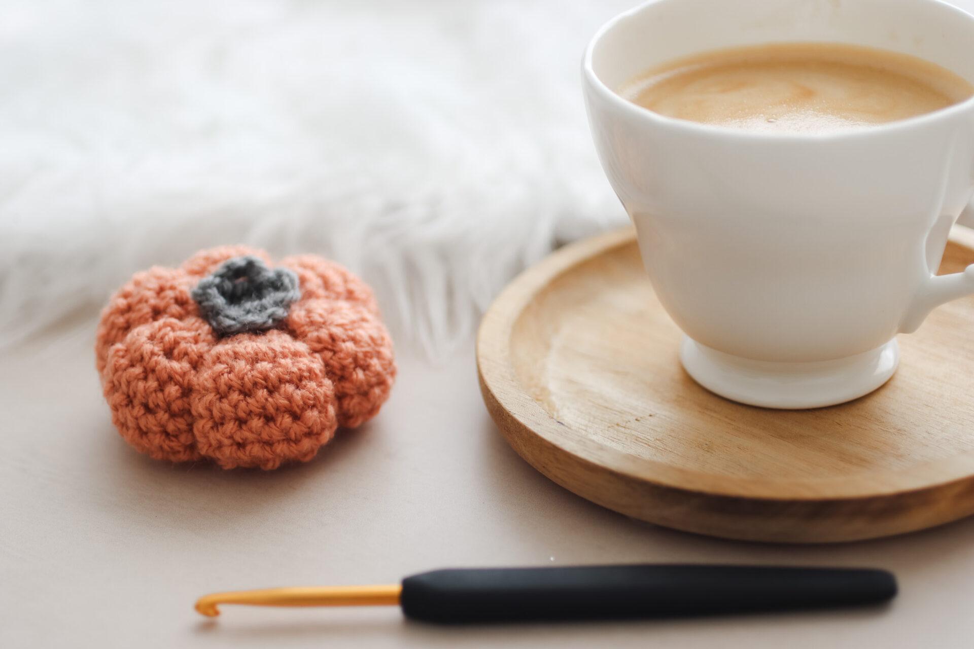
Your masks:
<svg viewBox="0 0 974 649"><path fill-rule="evenodd" d="M896 372L896 339L847 358L812 363L775 363L731 356L685 336L680 360L697 383L749 406L797 410L857 399Z"/></svg>

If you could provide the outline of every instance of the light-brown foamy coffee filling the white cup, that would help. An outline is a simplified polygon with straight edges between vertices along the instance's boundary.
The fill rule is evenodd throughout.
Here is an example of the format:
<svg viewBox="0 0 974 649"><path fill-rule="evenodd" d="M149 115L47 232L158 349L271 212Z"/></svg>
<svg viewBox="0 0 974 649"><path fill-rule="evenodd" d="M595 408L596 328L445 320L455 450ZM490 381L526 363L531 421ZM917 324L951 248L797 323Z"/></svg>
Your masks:
<svg viewBox="0 0 974 649"><path fill-rule="evenodd" d="M908 54L782 43L651 68L619 94L660 115L752 131L831 132L904 120L974 95L954 72Z"/></svg>

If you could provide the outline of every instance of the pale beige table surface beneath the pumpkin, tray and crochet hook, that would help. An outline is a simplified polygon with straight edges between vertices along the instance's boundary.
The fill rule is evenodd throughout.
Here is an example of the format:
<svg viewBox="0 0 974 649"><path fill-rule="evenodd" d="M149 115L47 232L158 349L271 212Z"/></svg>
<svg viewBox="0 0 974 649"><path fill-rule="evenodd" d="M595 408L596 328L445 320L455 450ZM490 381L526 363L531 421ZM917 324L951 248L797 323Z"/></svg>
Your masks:
<svg viewBox="0 0 974 649"><path fill-rule="evenodd" d="M0 356L2 647L970 647L974 520L786 547L631 521L548 482L495 430L470 348L400 355L389 404L310 464L173 467L115 433L92 315ZM472 347L472 344L470 345ZM440 629L395 608L193 610L212 590L384 583L443 566L622 561L875 565L888 607L677 622Z"/></svg>

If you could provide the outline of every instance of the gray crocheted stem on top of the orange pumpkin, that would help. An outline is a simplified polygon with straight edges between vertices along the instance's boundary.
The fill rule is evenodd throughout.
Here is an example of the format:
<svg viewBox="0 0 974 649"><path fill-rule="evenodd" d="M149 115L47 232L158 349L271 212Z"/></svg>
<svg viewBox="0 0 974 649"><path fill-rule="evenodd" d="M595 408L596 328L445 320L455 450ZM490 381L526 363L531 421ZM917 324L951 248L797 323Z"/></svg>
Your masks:
<svg viewBox="0 0 974 649"><path fill-rule="evenodd" d="M248 255L228 259L192 295L213 331L232 336L274 328L301 299L301 290L293 270L271 270Z"/></svg>

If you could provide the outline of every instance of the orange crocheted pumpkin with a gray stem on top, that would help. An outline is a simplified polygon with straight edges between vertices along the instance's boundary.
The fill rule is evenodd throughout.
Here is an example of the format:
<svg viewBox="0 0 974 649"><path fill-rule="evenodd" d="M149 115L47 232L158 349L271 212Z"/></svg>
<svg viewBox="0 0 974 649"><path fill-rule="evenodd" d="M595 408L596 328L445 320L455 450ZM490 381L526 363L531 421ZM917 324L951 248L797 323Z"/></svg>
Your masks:
<svg viewBox="0 0 974 649"><path fill-rule="evenodd" d="M112 420L156 459L225 469L308 461L379 412L393 343L369 287L312 255L204 250L136 273L101 313L96 366Z"/></svg>

